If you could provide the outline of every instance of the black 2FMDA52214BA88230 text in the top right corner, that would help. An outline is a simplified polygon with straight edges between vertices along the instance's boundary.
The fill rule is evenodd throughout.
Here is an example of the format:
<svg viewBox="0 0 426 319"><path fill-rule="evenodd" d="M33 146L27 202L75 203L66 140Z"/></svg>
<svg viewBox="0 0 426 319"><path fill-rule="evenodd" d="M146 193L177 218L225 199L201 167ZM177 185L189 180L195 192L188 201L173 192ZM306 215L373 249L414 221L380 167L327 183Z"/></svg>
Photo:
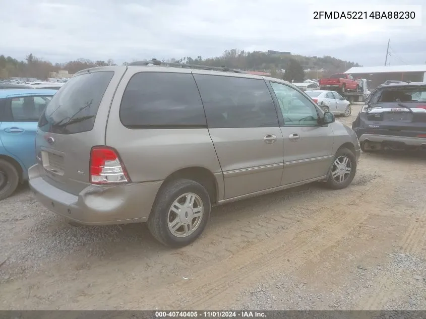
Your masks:
<svg viewBox="0 0 426 319"><path fill-rule="evenodd" d="M314 19L415 19L414 11L314 11Z"/></svg>

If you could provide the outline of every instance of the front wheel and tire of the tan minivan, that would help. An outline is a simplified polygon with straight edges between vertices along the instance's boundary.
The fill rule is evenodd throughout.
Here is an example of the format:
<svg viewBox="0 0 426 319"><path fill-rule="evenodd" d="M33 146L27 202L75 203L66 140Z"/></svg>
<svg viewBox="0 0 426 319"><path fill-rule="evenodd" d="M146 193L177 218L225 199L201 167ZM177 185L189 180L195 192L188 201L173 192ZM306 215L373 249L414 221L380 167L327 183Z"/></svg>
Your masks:
<svg viewBox="0 0 426 319"><path fill-rule="evenodd" d="M349 163L346 164L346 169L348 168L348 164L350 164L351 170L349 174L344 173L343 181L337 181L336 179L340 179L341 175L338 174L337 176L335 176L335 178L333 178L333 172L339 172L339 169L342 169L343 167L338 168L336 167L335 163L336 161L343 162L343 158L348 159ZM336 152L336 155L333 159L333 163L331 164L330 173L326 181L326 186L331 189L343 189L349 186L356 174L356 164L356 157L350 150L348 150L347 148L339 149Z"/></svg>

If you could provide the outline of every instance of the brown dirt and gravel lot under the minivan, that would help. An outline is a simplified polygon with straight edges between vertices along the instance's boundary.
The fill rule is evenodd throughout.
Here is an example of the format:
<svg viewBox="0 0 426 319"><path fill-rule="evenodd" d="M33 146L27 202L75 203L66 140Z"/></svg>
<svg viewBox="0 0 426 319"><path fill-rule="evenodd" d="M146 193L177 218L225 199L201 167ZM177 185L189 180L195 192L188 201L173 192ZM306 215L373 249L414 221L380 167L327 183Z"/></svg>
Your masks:
<svg viewBox="0 0 426 319"><path fill-rule="evenodd" d="M0 308L426 309L425 180L424 155L363 153L348 188L215 208L178 250L71 226L25 186L0 204Z"/></svg>

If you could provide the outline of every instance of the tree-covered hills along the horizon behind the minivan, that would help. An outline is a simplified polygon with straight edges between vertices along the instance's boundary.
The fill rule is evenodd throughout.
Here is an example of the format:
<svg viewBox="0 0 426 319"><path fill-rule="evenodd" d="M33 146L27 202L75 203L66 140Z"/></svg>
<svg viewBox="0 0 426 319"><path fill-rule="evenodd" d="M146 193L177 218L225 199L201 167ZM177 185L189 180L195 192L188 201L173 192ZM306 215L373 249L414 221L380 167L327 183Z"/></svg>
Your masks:
<svg viewBox="0 0 426 319"><path fill-rule="evenodd" d="M137 59L135 59L137 60ZM294 54L270 54L268 52L231 49L223 52L221 56L212 58L182 57L171 58L163 62L176 62L193 65L206 65L210 67L222 67L239 69L244 71L264 71L271 73L273 77L284 78L285 80L303 81L305 78L325 77L332 73L345 72L351 67L358 67L358 63L352 61L343 61L332 56L303 56ZM124 62L123 65L127 65ZM52 63L42 58L34 56L32 53L27 55L25 60L19 61L11 56L0 55L0 79L11 77L47 79L50 72L67 70L69 74L78 71L102 66L116 65L112 59L107 61L92 61L85 58L79 58L66 63ZM303 70L311 69L311 73L305 73ZM318 73L316 70L326 70ZM285 70L285 72L283 72Z"/></svg>

